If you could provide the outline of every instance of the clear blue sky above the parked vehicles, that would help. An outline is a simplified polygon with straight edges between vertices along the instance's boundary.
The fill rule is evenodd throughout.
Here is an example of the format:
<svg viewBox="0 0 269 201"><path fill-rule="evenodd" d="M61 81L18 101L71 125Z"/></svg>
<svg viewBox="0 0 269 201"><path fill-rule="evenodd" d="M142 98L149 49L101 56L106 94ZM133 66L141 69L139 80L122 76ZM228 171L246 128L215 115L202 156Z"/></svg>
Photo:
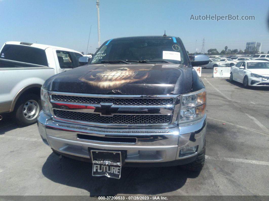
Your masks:
<svg viewBox="0 0 269 201"><path fill-rule="evenodd" d="M0 0L0 45L37 42L94 53L98 45L95 0ZM242 49L261 42L269 50L269 1L100 0L101 43L123 36L179 36L189 52ZM193 15L254 15L255 20L190 20Z"/></svg>

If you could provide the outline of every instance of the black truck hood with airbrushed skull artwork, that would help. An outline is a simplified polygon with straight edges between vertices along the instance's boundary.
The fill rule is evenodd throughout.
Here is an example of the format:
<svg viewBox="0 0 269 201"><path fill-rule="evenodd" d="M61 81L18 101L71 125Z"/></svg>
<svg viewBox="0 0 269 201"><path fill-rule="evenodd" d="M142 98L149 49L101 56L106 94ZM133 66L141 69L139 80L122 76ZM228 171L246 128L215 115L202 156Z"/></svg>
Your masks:
<svg viewBox="0 0 269 201"><path fill-rule="evenodd" d="M91 64L49 78L54 92L90 94L182 94L192 89L192 68L183 64Z"/></svg>

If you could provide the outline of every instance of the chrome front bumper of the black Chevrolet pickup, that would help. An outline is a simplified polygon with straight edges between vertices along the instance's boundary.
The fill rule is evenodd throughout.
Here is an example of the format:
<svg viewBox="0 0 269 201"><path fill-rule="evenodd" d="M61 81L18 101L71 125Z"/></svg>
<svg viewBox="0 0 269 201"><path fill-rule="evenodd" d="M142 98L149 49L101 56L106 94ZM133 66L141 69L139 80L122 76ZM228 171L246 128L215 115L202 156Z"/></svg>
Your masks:
<svg viewBox="0 0 269 201"><path fill-rule="evenodd" d="M206 115L194 122L171 128L101 128L52 120L40 112L38 130L43 141L55 152L90 161L90 149L125 150L127 163L162 163L182 159L195 160L206 139ZM107 142L78 137L136 138L136 142ZM98 138L100 139L100 138ZM197 152L179 157L180 149L198 145ZM182 160L183 161L183 160ZM190 160L186 160L192 162ZM186 162L187 163L187 162Z"/></svg>

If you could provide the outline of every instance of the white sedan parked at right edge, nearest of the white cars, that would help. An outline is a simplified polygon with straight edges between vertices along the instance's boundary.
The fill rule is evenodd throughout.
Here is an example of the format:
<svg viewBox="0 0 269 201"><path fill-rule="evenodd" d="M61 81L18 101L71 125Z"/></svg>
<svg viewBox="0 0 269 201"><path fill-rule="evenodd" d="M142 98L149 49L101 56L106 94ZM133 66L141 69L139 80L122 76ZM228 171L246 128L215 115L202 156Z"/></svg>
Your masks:
<svg viewBox="0 0 269 201"><path fill-rule="evenodd" d="M269 62L261 60L240 61L231 67L230 82L248 86L269 86Z"/></svg>

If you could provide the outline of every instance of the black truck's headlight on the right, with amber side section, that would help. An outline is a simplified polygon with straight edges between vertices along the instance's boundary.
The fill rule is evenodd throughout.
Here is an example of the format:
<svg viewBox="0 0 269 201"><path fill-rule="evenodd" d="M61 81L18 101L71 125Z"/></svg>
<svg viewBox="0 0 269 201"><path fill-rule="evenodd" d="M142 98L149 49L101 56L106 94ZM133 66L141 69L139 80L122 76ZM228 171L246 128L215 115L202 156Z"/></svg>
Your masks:
<svg viewBox="0 0 269 201"><path fill-rule="evenodd" d="M182 96L179 123L193 121L204 116L206 111L206 89Z"/></svg>

